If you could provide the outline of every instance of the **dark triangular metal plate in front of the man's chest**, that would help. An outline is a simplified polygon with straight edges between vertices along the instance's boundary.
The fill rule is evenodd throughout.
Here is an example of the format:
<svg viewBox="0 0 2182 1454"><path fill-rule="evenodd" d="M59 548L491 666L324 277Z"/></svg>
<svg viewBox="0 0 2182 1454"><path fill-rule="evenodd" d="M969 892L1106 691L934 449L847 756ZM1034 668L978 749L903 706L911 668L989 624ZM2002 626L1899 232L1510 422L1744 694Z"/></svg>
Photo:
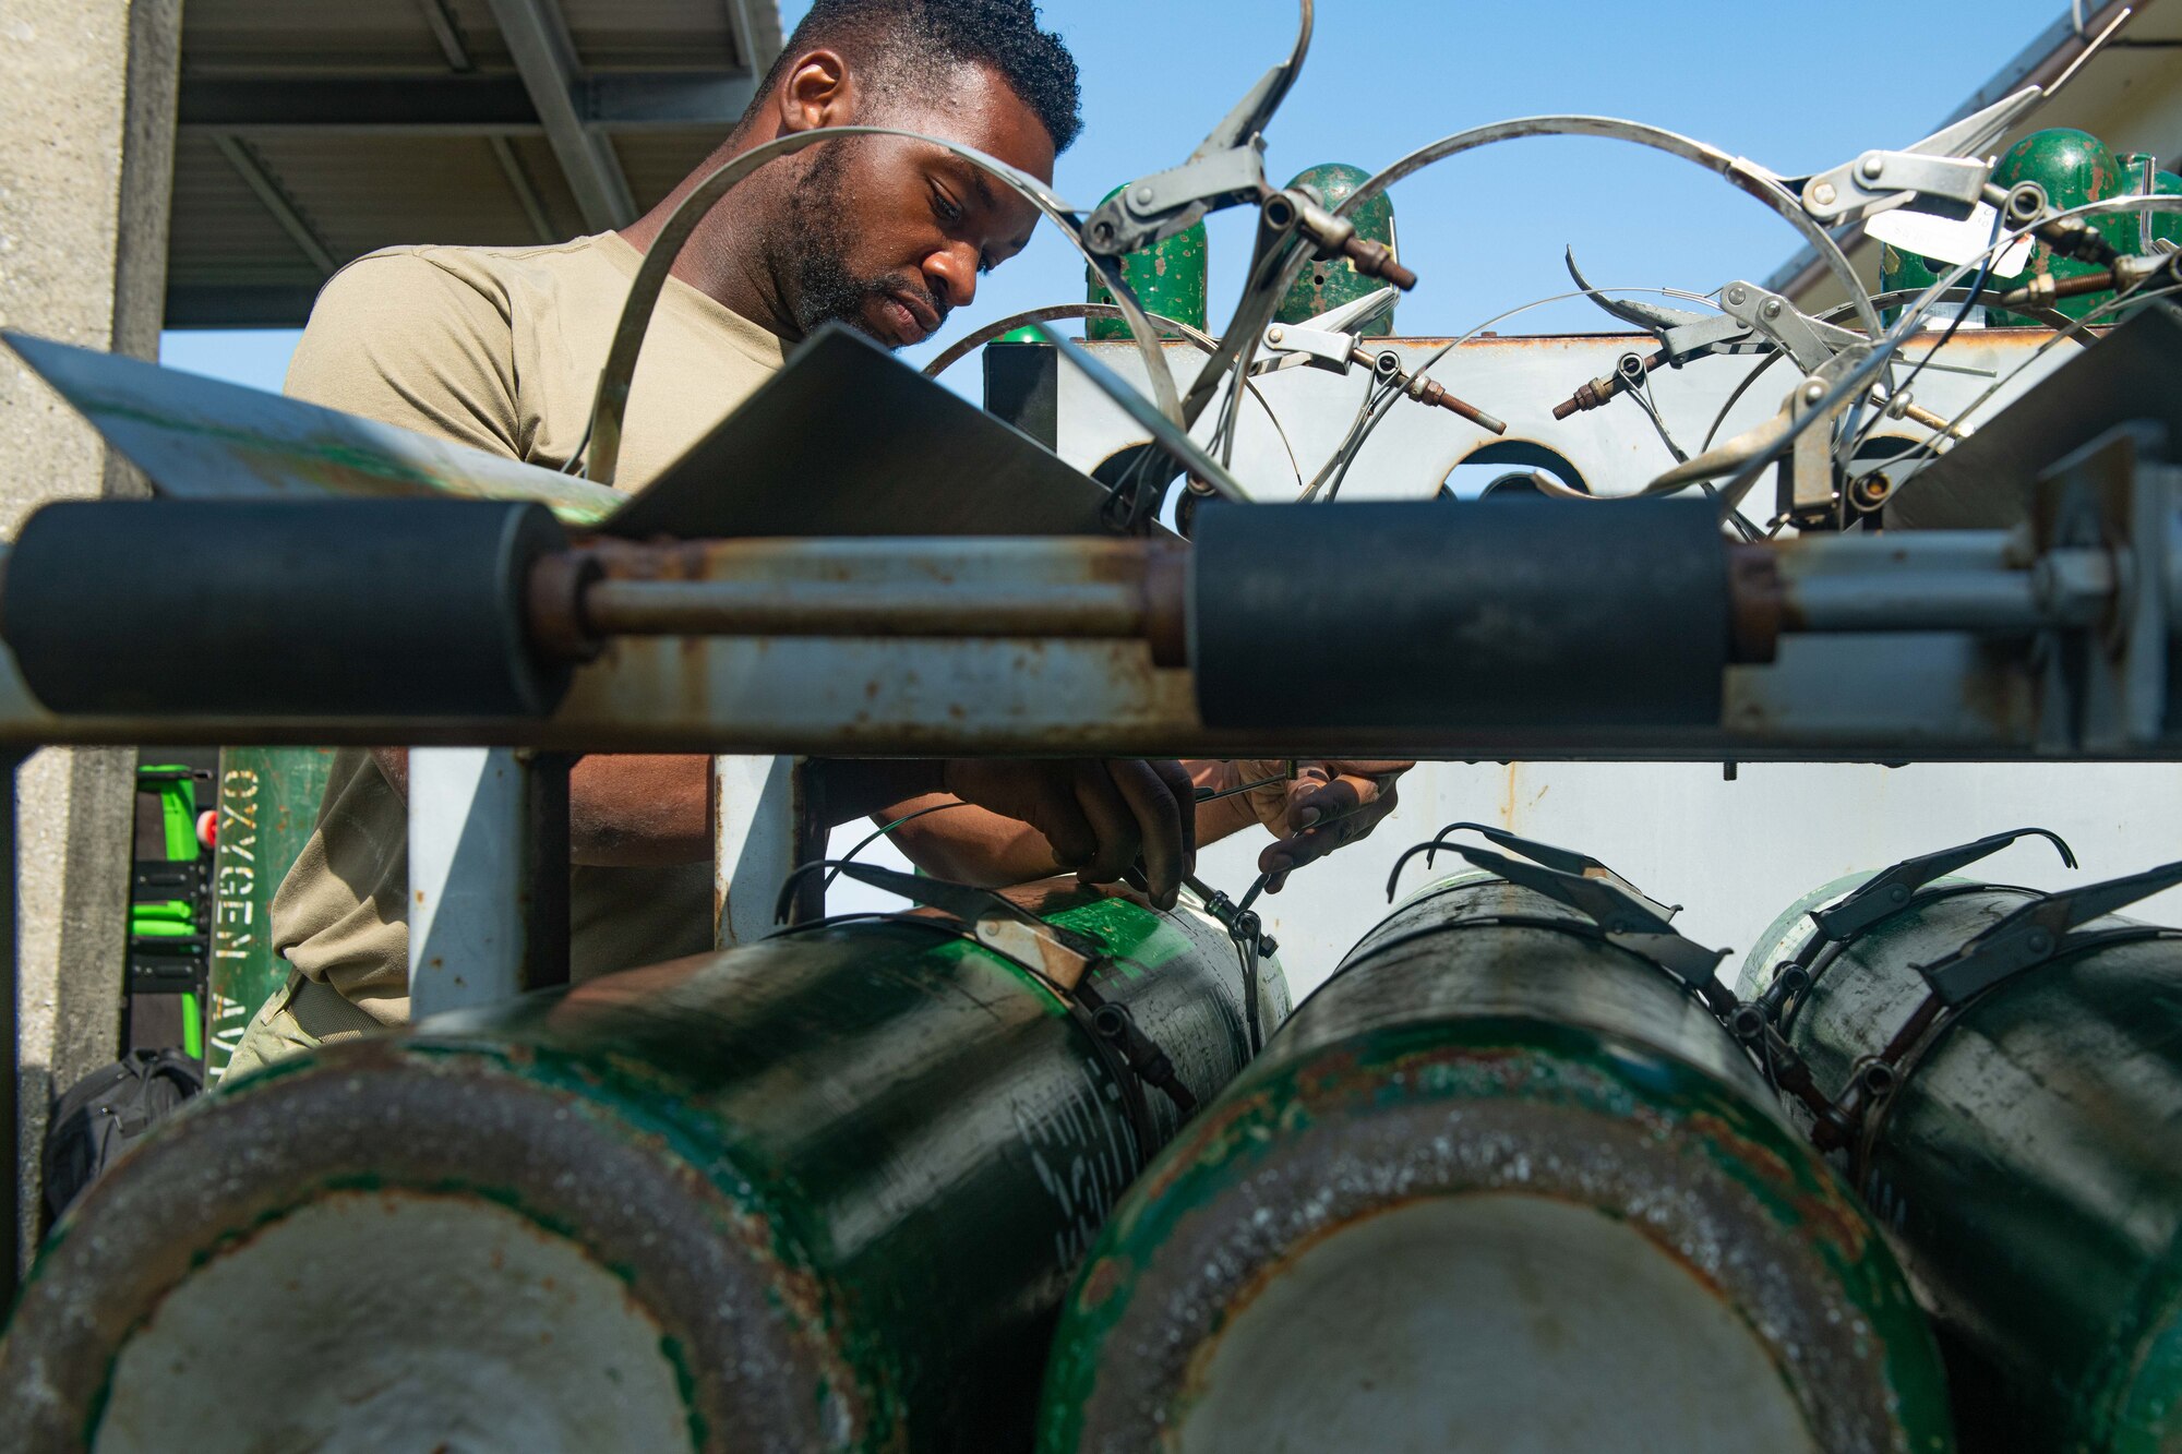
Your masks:
<svg viewBox="0 0 2182 1454"><path fill-rule="evenodd" d="M1039 441L829 325L602 528L631 539L1104 535L1104 500Z"/></svg>

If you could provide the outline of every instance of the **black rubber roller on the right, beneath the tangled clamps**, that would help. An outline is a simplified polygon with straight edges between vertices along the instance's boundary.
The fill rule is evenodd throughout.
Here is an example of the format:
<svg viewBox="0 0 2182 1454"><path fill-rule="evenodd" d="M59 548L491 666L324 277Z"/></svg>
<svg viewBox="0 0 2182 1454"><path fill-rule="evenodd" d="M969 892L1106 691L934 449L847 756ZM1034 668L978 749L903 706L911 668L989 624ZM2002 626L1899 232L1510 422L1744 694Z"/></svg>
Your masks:
<svg viewBox="0 0 2182 1454"><path fill-rule="evenodd" d="M1209 727L1715 727L1706 500L1220 506L1196 522Z"/></svg>

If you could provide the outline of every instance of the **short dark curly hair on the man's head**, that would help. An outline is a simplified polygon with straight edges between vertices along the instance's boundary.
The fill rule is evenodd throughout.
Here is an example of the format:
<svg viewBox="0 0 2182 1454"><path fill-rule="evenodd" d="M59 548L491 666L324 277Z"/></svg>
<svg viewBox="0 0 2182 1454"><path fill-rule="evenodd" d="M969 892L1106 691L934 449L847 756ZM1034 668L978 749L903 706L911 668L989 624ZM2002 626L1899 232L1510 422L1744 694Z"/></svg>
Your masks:
<svg viewBox="0 0 2182 1454"><path fill-rule="evenodd" d="M932 81L947 61L982 61L1045 122L1056 153L1082 131L1076 57L1039 28L1034 0L818 0L766 74L757 105L818 46L860 63L884 92Z"/></svg>

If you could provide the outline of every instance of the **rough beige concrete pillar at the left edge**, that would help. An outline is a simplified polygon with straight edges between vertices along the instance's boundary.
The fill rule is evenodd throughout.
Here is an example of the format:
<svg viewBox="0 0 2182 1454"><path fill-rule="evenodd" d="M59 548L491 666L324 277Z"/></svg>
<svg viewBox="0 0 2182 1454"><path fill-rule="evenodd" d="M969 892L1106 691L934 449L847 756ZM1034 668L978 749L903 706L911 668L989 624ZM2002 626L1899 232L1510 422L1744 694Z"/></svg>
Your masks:
<svg viewBox="0 0 2182 1454"><path fill-rule="evenodd" d="M181 0L0 0L0 325L157 356L179 63ZM140 489L0 351L0 535L46 500ZM22 768L26 1216L48 1096L118 1052L133 775L116 749Z"/></svg>

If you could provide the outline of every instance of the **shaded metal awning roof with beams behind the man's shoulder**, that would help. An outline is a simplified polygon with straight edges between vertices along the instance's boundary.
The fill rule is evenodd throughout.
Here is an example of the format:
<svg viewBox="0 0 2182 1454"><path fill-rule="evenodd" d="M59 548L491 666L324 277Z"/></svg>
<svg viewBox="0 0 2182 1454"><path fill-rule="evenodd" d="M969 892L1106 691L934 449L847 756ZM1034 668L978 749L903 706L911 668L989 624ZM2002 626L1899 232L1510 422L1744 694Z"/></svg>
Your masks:
<svg viewBox="0 0 2182 1454"><path fill-rule="evenodd" d="M779 48L777 0L190 0L166 325L299 325L397 242L624 225Z"/></svg>

